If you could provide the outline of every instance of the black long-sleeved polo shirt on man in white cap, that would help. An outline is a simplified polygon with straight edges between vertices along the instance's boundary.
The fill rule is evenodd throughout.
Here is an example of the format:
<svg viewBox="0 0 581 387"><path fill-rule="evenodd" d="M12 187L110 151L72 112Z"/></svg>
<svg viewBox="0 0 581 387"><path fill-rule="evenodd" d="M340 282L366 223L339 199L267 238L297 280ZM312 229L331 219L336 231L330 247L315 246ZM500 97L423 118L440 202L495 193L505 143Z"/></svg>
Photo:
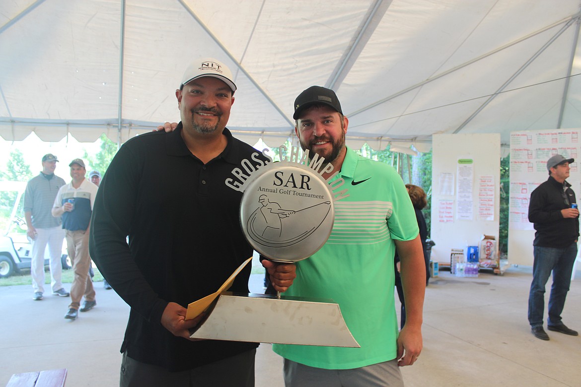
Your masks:
<svg viewBox="0 0 581 387"><path fill-rule="evenodd" d="M91 256L131 306L121 352L181 371L256 348L256 343L187 341L160 319L168 302L187 307L218 290L252 248L242 234L242 193L225 185L242 160L259 153L224 129L228 144L203 164L181 138L152 132L126 142L99 187L91 223ZM264 157L260 155L260 160ZM129 236L129 246L125 242ZM248 292L250 265L231 291Z"/></svg>

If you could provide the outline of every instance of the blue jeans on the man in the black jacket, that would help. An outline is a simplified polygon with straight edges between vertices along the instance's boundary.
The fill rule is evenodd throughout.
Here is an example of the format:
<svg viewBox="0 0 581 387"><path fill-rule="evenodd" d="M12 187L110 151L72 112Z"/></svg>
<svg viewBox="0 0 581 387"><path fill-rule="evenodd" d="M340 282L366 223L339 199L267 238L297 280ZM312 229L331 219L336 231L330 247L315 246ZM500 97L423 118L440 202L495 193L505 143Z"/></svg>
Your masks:
<svg viewBox="0 0 581 387"><path fill-rule="evenodd" d="M543 326L544 292L548 277L553 272L553 285L548 299L548 325L561 325L561 312L571 285L571 272L577 256L577 243L565 248L535 246L533 282L529 293L530 326Z"/></svg>

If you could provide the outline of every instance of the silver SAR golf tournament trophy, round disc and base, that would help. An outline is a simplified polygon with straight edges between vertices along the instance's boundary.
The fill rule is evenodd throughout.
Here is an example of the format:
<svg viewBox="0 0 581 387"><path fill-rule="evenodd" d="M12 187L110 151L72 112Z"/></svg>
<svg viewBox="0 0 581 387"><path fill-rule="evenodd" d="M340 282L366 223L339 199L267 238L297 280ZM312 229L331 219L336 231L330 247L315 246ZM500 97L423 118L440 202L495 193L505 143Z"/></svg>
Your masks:
<svg viewBox="0 0 581 387"><path fill-rule="evenodd" d="M243 233L271 261L309 258L329 238L336 198L315 168L323 160L271 162L237 187ZM219 291L192 338L359 347L332 300Z"/></svg>

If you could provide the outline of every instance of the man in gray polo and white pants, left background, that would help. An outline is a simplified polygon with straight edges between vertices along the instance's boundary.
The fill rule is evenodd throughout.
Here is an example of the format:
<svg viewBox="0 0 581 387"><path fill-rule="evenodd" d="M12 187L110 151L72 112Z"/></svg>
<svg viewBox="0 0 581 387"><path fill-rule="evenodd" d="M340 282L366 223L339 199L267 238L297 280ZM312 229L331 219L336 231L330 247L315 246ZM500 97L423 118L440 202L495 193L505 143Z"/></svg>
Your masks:
<svg viewBox="0 0 581 387"><path fill-rule="evenodd" d="M55 155L49 153L42 157L42 172L30 179L24 192L24 218L28 230L27 236L32 240L32 262L30 274L33 277L35 301L42 299L44 293L44 254L46 245L49 248L51 263L52 294L68 297L60 281L62 264L60 255L63 249L64 230L60 227L60 218L51 214L56 193L64 186L64 180L55 175Z"/></svg>

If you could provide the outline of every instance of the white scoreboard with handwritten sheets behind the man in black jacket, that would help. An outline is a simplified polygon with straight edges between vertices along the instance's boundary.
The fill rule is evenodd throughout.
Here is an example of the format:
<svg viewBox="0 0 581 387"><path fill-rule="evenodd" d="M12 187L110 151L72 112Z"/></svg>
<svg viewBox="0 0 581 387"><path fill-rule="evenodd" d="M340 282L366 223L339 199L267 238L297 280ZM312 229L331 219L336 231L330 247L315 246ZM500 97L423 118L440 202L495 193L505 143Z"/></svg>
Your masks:
<svg viewBox="0 0 581 387"><path fill-rule="evenodd" d="M547 160L555 154L575 158L567 179L579 196L581 129L512 132L510 139L510 201L508 215L508 261L533 265L535 229L529 222L530 193L548 178Z"/></svg>

